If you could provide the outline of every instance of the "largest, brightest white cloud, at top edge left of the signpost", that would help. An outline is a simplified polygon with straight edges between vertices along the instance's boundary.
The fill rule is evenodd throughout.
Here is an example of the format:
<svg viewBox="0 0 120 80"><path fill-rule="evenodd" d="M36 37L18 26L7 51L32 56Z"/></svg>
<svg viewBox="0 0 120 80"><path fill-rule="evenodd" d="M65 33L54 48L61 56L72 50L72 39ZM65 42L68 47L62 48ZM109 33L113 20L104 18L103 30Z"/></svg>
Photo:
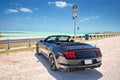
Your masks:
<svg viewBox="0 0 120 80"><path fill-rule="evenodd" d="M64 1L55 1L55 2L48 2L49 5L52 5L54 4L56 7L59 7L59 8L64 8L66 6L72 6L72 4L70 3L66 3Z"/></svg>

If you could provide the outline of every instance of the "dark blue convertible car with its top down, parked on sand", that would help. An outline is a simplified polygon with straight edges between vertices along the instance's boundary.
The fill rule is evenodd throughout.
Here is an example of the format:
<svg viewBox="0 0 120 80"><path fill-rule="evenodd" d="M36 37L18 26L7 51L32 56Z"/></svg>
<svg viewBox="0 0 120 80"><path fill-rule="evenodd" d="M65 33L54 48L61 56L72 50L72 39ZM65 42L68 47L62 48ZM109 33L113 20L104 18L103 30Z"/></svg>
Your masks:
<svg viewBox="0 0 120 80"><path fill-rule="evenodd" d="M90 44L75 42L71 36L53 35L36 43L36 53L48 58L51 70L87 70L100 67L102 54Z"/></svg>

